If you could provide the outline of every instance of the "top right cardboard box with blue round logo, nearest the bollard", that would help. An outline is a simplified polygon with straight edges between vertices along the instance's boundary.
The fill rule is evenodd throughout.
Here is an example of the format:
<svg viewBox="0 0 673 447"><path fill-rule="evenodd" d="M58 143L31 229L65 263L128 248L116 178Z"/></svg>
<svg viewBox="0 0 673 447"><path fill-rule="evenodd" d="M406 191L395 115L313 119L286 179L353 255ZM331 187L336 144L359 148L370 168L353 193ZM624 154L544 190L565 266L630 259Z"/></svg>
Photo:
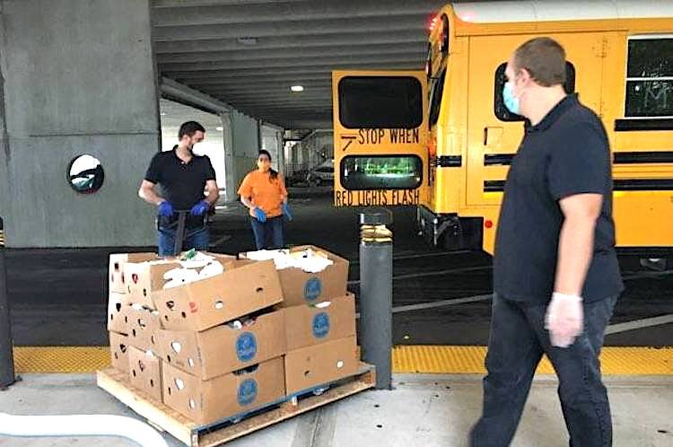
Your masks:
<svg viewBox="0 0 673 447"><path fill-rule="evenodd" d="M293 247L290 252L308 249L324 253L334 264L319 273L307 273L299 268L278 270L283 287L283 307L328 301L346 294L348 260L313 245ZM242 253L241 256L245 257L247 253Z"/></svg>

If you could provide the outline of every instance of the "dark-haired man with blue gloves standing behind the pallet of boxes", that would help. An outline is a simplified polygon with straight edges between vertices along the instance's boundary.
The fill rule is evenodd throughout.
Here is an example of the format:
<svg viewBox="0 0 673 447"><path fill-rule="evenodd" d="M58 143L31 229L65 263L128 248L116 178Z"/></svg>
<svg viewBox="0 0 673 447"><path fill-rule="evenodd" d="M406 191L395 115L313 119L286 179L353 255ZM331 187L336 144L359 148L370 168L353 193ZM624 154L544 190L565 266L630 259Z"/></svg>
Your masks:
<svg viewBox="0 0 673 447"><path fill-rule="evenodd" d="M205 128L188 121L179 128L179 143L172 151L154 155L138 194L158 206L158 246L160 256L170 256L175 247L177 211L188 210L183 249L207 250L208 229L204 217L220 197L210 159L192 152L205 138ZM159 184L162 195L154 191ZM205 197L204 190L208 195Z"/></svg>

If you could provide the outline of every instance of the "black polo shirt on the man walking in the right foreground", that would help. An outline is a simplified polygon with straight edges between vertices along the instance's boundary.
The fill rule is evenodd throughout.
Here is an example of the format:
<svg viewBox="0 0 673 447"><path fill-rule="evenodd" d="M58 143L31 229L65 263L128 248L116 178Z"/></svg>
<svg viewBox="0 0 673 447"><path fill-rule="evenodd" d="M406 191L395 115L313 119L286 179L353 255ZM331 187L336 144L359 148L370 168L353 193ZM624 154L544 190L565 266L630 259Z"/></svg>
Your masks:
<svg viewBox="0 0 673 447"><path fill-rule="evenodd" d="M559 200L603 195L582 297L598 301L623 289L612 219L612 169L599 117L576 95L559 102L526 133L504 188L494 255L494 292L504 298L548 302L554 292L564 215Z"/></svg>

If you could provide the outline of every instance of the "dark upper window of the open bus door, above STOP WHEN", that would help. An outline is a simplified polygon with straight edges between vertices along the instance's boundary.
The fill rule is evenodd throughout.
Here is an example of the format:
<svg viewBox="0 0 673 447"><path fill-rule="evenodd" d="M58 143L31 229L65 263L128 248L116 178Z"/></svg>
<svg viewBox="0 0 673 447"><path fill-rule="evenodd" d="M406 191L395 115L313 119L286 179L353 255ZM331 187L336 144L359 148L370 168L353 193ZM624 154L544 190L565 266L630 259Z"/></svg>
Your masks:
<svg viewBox="0 0 673 447"><path fill-rule="evenodd" d="M410 76L347 76L339 83L346 128L413 128L423 123L423 87Z"/></svg>

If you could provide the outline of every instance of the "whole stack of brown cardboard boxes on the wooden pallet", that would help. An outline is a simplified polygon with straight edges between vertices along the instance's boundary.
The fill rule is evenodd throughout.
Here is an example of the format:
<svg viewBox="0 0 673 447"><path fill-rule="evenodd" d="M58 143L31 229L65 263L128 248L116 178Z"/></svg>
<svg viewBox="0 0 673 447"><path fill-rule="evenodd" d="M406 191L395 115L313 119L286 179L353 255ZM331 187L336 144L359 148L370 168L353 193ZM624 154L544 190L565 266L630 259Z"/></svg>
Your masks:
<svg viewBox="0 0 673 447"><path fill-rule="evenodd" d="M318 273L210 255L223 273L164 288L178 259L110 255L112 365L133 387L208 425L357 371L348 261Z"/></svg>

